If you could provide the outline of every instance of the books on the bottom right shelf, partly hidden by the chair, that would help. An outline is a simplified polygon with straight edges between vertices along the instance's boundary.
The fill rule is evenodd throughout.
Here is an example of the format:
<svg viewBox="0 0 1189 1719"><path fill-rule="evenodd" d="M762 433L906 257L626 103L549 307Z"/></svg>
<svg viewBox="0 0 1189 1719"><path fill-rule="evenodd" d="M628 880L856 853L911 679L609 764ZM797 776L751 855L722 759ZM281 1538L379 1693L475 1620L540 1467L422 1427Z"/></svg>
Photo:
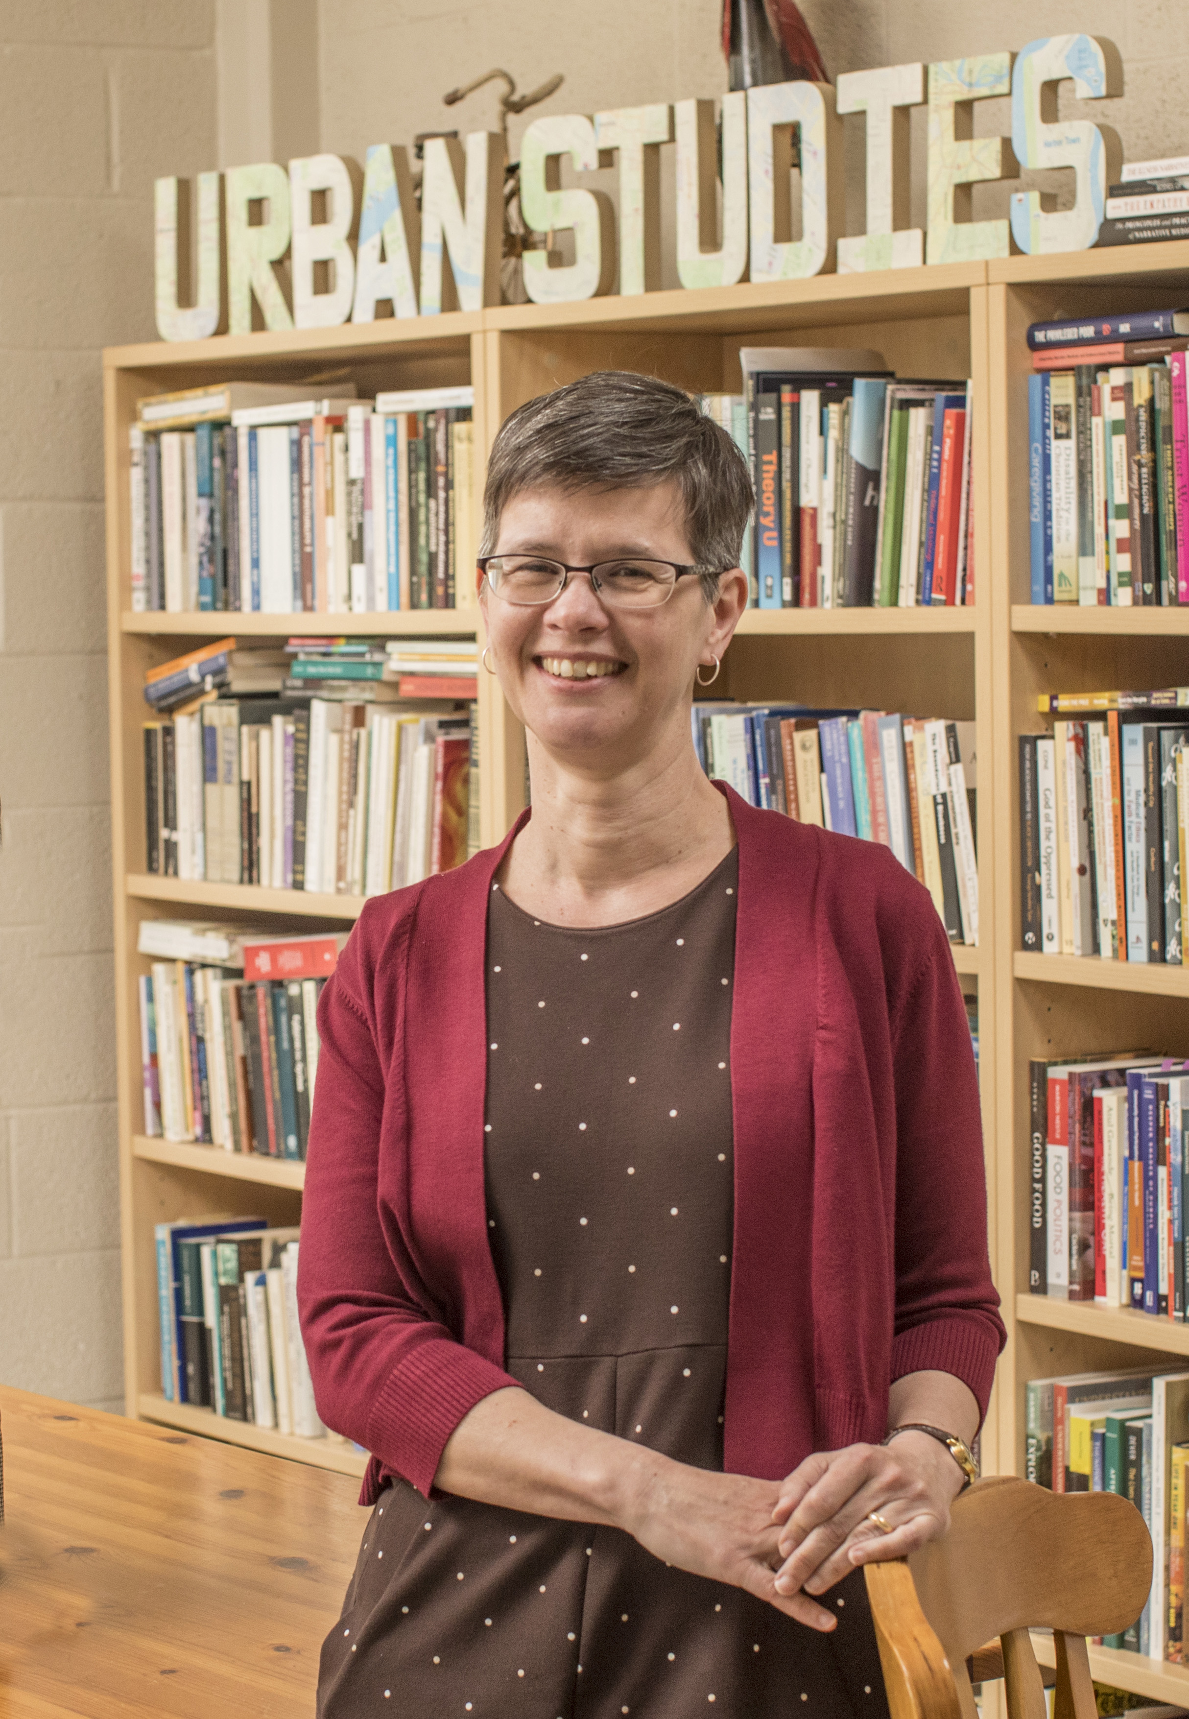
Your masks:
<svg viewBox="0 0 1189 1719"><path fill-rule="evenodd" d="M1189 1662L1184 1631L1189 1373L1067 1373L1024 1387L1024 1475L1053 1492L1117 1492L1151 1533L1141 1618L1105 1647Z"/></svg>

